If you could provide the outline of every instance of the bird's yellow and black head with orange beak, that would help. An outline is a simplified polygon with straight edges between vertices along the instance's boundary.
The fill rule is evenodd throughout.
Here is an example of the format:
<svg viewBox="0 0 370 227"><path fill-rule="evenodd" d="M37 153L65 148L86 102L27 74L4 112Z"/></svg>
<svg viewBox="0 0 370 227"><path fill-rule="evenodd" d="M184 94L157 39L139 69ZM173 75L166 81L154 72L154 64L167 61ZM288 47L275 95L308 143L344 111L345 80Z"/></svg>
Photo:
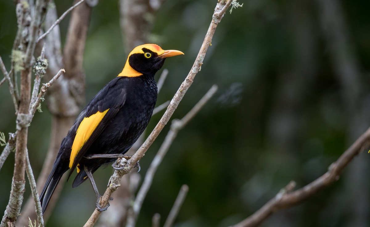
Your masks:
<svg viewBox="0 0 370 227"><path fill-rule="evenodd" d="M136 77L154 75L167 57L184 54L179 50L163 50L156 44L144 44L134 48L127 57L125 67L118 76Z"/></svg>

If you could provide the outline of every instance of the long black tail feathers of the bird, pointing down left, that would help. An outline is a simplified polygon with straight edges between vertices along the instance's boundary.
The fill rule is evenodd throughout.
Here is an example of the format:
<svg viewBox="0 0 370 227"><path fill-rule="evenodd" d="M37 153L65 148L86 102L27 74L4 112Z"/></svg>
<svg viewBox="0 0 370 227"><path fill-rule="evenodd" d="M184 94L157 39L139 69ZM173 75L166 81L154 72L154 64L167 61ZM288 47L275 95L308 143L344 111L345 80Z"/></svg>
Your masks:
<svg viewBox="0 0 370 227"><path fill-rule="evenodd" d="M55 171L55 170L57 170L57 165L59 163L59 159L60 158L58 158L55 161L54 166L53 166L53 170L51 170L51 173L50 173L50 175L49 175L49 177L48 177L48 179L45 183L43 191L41 191L41 194L40 194L40 203L41 203L41 208L42 208L43 214L45 213L46 207L49 204L50 198L53 195L53 193L55 191L55 188L57 187L57 185L60 181L60 178L62 178L63 173L68 170L68 169L66 169L66 170L61 171L61 172L60 171Z"/></svg>

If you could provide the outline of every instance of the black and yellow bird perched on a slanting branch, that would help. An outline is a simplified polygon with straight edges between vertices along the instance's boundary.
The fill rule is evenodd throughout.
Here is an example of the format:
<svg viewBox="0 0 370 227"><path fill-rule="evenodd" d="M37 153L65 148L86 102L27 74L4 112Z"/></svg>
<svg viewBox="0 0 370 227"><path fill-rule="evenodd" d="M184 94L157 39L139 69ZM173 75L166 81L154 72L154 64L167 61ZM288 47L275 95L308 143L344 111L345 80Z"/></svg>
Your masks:
<svg viewBox="0 0 370 227"><path fill-rule="evenodd" d="M156 44L135 47L128 55L122 72L108 82L86 105L61 142L51 173L40 194L42 213L63 174L74 170L75 188L87 178L101 207L92 174L102 165L124 155L147 127L157 101L154 75L167 57L184 54L179 50L163 50Z"/></svg>

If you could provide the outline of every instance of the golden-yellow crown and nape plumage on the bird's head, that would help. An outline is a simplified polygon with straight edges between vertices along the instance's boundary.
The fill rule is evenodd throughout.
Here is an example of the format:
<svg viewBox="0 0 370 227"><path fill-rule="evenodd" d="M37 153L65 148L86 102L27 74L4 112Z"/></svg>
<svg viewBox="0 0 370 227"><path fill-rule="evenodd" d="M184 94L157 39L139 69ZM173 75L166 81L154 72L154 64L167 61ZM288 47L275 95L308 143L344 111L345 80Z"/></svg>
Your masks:
<svg viewBox="0 0 370 227"><path fill-rule="evenodd" d="M132 54L144 54L144 50L142 50L143 48L146 48L146 49L149 49L155 53L157 53L158 55L161 55L164 53L164 50L158 46L157 44L144 44L144 45L140 45L140 46L137 46L134 48L134 50L132 50L128 57L127 57L127 60L126 60L126 63L125 63L125 67L123 67L123 70L120 74L118 74L118 76L127 76L127 77L136 77L136 76L141 76L142 73L139 73L138 71L134 70L130 64L128 63L128 58L132 55Z"/></svg>

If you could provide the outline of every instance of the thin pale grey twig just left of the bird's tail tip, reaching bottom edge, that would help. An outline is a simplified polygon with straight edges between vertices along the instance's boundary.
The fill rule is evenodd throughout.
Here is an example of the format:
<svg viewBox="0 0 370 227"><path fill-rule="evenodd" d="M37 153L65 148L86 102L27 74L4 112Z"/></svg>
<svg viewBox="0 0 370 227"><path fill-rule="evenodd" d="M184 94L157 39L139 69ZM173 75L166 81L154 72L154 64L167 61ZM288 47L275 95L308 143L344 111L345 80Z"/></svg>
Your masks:
<svg viewBox="0 0 370 227"><path fill-rule="evenodd" d="M37 222L40 225L40 227L44 227L44 218L43 218L43 214L41 211L40 198L37 193L36 181L33 175L32 167L30 163L30 157L28 156L28 149L26 149L26 173L27 173L28 181L30 181L31 192L32 192L32 196L35 201Z"/></svg>

